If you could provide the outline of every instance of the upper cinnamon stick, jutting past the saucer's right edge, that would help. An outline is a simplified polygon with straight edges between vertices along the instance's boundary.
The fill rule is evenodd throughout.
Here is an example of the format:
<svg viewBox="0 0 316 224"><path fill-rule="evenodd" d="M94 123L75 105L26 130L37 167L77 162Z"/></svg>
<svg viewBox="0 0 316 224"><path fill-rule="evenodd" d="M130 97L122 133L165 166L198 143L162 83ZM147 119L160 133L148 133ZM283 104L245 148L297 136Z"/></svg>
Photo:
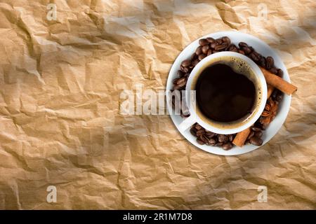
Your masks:
<svg viewBox="0 0 316 224"><path fill-rule="evenodd" d="M267 82L267 84L272 85L273 87L276 87L278 90L281 90L282 92L288 95L296 92L297 87L295 85L292 85L291 83L287 82L283 78L280 78L279 76L276 76L270 71L263 69L263 67L261 66L260 66L260 69L263 73L263 76L265 76L265 81Z"/></svg>

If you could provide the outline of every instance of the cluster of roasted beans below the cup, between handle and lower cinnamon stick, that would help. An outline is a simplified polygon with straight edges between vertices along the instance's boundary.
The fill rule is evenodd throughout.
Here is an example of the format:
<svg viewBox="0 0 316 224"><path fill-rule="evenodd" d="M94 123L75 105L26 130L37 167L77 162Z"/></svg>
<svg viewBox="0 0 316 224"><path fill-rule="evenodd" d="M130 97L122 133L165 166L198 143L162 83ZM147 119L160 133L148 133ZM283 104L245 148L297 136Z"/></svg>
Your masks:
<svg viewBox="0 0 316 224"><path fill-rule="evenodd" d="M232 148L232 141L236 134L216 134L205 130L201 125L195 123L190 129L191 134L197 137L197 143L207 146L220 146L224 150Z"/></svg>

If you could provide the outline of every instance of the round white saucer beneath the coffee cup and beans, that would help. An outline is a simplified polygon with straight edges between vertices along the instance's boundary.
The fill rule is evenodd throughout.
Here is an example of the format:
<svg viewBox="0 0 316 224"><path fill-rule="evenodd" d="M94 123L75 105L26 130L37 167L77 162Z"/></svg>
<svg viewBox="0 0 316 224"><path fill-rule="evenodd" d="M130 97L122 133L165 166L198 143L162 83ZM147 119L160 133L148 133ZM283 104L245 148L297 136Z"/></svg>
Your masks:
<svg viewBox="0 0 316 224"><path fill-rule="evenodd" d="M222 36L228 36L232 43L235 43L235 45L238 46L239 42L245 42L248 45L252 46L258 53L261 55L268 57L271 56L275 60L275 66L279 69L282 69L283 71L283 79L290 82L289 73L287 73L287 68L283 64L281 58L277 55L277 53L270 48L268 44L261 41L259 38L256 38L255 36L251 36L249 34L244 34L237 31L220 31L217 33L209 34L206 36L202 36L201 38L206 37L213 37L213 38L220 38ZM200 39L200 38L199 38ZM188 59L191 57L192 53L195 52L195 49L199 46L199 39L196 41L193 41L188 45L182 52L180 52L180 55L178 55L176 61L173 63L171 70L169 72L169 77L166 83L166 91L172 90L173 88L173 80L177 78L177 71L180 69L180 64L183 62L183 60ZM167 102L169 100L167 99ZM291 96L284 94L284 97L282 99L282 102L279 104L279 111L277 112L277 116L275 119L268 125L268 128L263 132L263 145L266 144L272 137L277 134L279 129L282 127L285 119L287 118L287 114L289 113L289 108L291 104ZM172 112L172 107L169 103L167 103L169 113L171 114L171 119L173 123L178 128L178 125L184 120L178 115L174 115ZM180 131L180 130L179 130ZM242 148L239 148L235 146L234 148L230 149L229 151L225 151L220 147L217 146L206 146L206 145L199 145L197 143L197 138L194 137L190 133L190 129L185 130L184 132L180 132L183 134L185 139L187 141L190 141L193 145L197 146L197 148L201 148L202 150L213 153L217 155L239 155L243 153L249 153L251 151L254 151L256 148L259 148L261 146L254 146L254 145L245 145Z"/></svg>

